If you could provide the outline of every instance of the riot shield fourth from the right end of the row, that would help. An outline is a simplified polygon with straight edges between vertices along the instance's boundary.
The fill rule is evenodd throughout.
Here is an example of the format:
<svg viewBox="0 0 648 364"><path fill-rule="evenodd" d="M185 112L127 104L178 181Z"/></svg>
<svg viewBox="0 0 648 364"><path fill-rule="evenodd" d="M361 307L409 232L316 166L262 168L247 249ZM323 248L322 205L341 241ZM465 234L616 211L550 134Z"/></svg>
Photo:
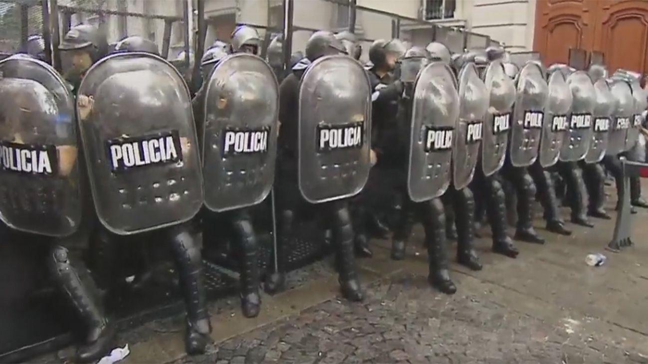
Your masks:
<svg viewBox="0 0 648 364"><path fill-rule="evenodd" d="M562 143L560 159L565 162L575 162L583 159L590 148L596 91L592 79L585 71L570 74L567 84L572 90L572 112L567 137Z"/></svg>

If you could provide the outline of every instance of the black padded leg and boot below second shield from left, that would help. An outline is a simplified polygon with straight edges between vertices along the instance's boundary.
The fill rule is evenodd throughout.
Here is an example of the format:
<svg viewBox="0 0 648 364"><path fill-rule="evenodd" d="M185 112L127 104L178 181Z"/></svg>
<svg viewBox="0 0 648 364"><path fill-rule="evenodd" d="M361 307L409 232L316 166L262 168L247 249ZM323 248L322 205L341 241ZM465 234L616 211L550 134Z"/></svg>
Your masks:
<svg viewBox="0 0 648 364"><path fill-rule="evenodd" d="M185 350L195 355L205 352L210 341L209 313L202 273L201 245L189 223L169 230L182 296L187 308Z"/></svg>

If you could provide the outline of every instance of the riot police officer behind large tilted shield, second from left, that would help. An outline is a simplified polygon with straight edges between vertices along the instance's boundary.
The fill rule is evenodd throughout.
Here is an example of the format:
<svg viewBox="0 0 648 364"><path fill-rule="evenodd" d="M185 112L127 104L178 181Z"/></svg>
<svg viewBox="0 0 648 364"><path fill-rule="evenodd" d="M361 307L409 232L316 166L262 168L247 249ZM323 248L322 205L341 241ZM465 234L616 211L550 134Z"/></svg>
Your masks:
<svg viewBox="0 0 648 364"><path fill-rule="evenodd" d="M83 46L78 38L72 43ZM102 225L98 236L106 244L126 235L170 241L187 308L185 348L198 354L209 341L211 324L202 242L191 222L203 190L189 89L149 41L127 38L117 49L91 71L77 70L84 75L76 107L86 160L92 161L88 174ZM128 54L133 51L137 62Z"/></svg>

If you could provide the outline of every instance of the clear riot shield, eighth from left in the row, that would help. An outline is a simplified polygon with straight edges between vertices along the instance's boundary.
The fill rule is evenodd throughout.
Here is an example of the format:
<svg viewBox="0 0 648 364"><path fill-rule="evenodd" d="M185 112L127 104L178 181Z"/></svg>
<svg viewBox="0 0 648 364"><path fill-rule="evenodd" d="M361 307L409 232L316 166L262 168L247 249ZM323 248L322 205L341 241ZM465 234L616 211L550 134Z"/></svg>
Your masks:
<svg viewBox="0 0 648 364"><path fill-rule="evenodd" d="M509 157L516 167L530 166L538 157L544 106L549 87L542 68L527 62L516 76L517 97L513 107L513 127L509 141Z"/></svg>

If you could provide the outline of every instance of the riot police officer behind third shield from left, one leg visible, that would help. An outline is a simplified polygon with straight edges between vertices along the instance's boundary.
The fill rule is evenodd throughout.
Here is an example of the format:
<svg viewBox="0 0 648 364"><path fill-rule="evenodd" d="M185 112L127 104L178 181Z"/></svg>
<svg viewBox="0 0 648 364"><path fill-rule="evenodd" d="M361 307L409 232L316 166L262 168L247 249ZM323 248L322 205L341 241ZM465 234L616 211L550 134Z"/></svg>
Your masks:
<svg viewBox="0 0 648 364"><path fill-rule="evenodd" d="M260 310L259 244L250 208L263 201L272 186L279 91L268 63L255 53L244 52L251 38L241 40L243 36L246 31L240 29L233 33L236 51L232 56L226 56L220 44L205 52L201 62L204 82L194 98L194 115L203 145L205 207L217 213L206 213L203 220L210 224L214 217L222 220L233 237L241 308L244 316L256 317ZM237 151L237 139L249 141L250 146L253 141L263 145L257 142L258 148ZM246 173L232 175L232 169L255 174L257 182L248 181Z"/></svg>

